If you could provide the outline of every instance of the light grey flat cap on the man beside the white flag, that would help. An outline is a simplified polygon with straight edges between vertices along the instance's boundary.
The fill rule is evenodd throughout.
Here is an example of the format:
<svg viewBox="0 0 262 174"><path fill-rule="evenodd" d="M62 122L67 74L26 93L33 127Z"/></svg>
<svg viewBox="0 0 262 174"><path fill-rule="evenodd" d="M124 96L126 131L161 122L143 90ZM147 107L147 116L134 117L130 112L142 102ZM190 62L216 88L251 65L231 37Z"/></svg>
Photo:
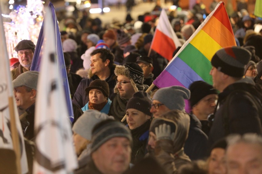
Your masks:
<svg viewBox="0 0 262 174"><path fill-rule="evenodd" d="M13 80L14 88L26 86L31 89L37 89L38 71L26 71Z"/></svg>

